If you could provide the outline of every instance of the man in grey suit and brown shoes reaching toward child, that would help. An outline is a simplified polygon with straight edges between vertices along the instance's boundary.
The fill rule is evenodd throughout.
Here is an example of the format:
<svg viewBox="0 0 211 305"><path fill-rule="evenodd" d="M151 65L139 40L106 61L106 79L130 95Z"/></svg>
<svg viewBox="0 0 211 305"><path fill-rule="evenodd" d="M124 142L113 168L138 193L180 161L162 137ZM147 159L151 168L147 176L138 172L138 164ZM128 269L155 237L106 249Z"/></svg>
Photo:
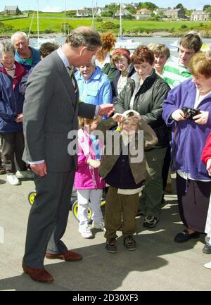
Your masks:
<svg viewBox="0 0 211 305"><path fill-rule="evenodd" d="M68 222L70 196L77 155L68 153L68 132L78 129L78 116L110 115L113 106L78 102L78 88L70 66L90 61L101 46L91 27L78 27L65 44L33 69L27 82L23 109L25 152L23 158L36 173L34 199L27 225L23 270L33 280L52 282L44 258L77 261L60 240ZM71 76L70 76L70 74ZM70 151L69 151L70 152Z"/></svg>

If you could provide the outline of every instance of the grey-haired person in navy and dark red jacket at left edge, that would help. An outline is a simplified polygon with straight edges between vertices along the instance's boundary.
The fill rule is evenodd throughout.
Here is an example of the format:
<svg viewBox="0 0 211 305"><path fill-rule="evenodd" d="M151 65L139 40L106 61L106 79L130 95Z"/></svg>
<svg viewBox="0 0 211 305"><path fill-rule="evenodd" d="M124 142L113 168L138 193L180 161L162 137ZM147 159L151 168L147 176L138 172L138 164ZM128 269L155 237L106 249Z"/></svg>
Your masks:
<svg viewBox="0 0 211 305"><path fill-rule="evenodd" d="M6 167L7 180L11 185L19 185L18 178L33 178L22 160L23 100L20 92L25 68L15 61L15 49L8 42L0 44L0 135L2 157ZM14 162L14 158L16 163ZM17 166L17 168L16 168ZM16 175L15 175L16 173Z"/></svg>

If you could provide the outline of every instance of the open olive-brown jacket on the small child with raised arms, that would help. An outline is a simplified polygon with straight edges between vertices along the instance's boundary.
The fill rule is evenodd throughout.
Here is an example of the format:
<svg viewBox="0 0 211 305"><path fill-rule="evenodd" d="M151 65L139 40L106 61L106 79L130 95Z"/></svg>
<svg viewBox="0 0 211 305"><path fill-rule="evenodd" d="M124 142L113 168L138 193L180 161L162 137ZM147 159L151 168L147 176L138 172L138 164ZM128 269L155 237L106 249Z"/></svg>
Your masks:
<svg viewBox="0 0 211 305"><path fill-rule="evenodd" d="M104 134L104 139L106 139L106 130L108 128L113 127L114 120L113 118L108 118L108 120L102 120L101 123L98 125L98 130L103 131ZM153 132L152 128L146 124L146 121L141 118L140 123L139 123L139 130L143 130L143 148L144 149L150 149L153 147L157 142L158 139L155 135L155 132ZM117 130L111 131L112 135L115 135L115 133L120 132ZM115 141L115 137L112 137L111 142L104 143L106 144L106 149L104 151L104 155L101 161L101 166L99 168L99 175L101 175L101 178L106 178L106 175L110 172L110 170L113 168L115 165L117 159L120 157L120 152L122 151L122 136L120 135L120 149L118 149L117 141ZM100 139L101 140L101 139ZM108 144L109 144L109 149L108 149ZM138 150L138 136L136 134L136 139L132 144L135 144L135 150ZM135 161L137 154L131 154L129 149L129 166L132 170L132 175L134 177L134 180L136 184L141 182L142 180L146 179L146 158L143 153L143 159L141 161Z"/></svg>

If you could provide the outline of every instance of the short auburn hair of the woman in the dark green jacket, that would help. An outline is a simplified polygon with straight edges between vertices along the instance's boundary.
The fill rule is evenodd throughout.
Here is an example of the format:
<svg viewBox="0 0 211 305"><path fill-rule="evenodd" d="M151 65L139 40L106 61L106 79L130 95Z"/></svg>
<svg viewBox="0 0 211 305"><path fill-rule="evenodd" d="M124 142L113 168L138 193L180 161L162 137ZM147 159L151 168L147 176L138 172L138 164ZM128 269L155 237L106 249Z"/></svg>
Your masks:
<svg viewBox="0 0 211 305"><path fill-rule="evenodd" d="M154 53L147 46L138 46L132 54L131 61L134 65L146 61L151 66L155 60Z"/></svg>

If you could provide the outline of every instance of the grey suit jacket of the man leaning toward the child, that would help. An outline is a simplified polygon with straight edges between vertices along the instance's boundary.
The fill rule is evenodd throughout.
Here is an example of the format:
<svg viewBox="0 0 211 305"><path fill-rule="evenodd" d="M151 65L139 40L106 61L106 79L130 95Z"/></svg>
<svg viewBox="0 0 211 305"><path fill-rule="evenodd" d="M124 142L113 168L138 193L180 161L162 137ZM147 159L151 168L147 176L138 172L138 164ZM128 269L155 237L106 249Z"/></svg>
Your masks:
<svg viewBox="0 0 211 305"><path fill-rule="evenodd" d="M27 82L23 106L23 160L45 160L47 169L67 172L77 168L68 154L68 132L78 129L78 116L93 118L96 106L78 101L78 94L57 52L40 61Z"/></svg>

